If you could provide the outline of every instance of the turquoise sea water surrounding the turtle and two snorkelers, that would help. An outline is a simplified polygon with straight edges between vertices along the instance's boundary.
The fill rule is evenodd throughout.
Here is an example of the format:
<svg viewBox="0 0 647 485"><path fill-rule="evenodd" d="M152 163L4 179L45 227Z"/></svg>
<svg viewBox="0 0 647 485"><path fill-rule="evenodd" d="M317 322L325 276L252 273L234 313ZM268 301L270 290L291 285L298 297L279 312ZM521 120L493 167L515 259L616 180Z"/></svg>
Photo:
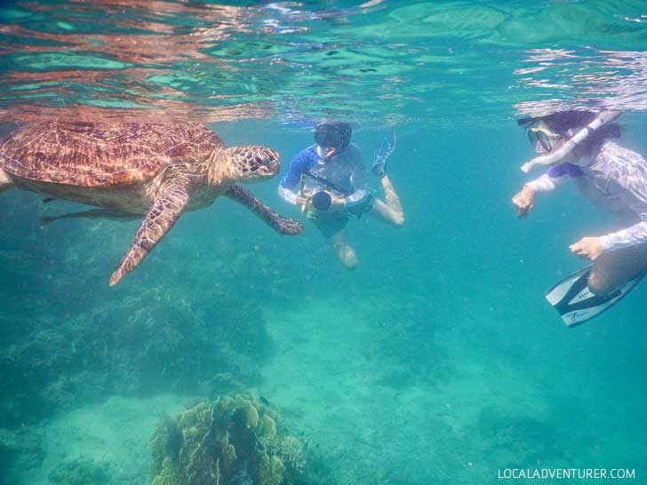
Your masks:
<svg viewBox="0 0 647 485"><path fill-rule="evenodd" d="M275 148L283 173L316 120L353 123L367 162L395 130L406 223L351 221L347 272L276 178L249 188L303 235L218 200L108 288L136 222L41 227L78 207L4 192L0 484L150 483L162 417L234 394L301 442L299 483L645 481L644 288L572 330L543 298L611 218L573 187L528 220L510 203L532 156L520 116L626 110L622 144L647 153L645 22L627 1L3 4L3 132L199 121Z"/></svg>

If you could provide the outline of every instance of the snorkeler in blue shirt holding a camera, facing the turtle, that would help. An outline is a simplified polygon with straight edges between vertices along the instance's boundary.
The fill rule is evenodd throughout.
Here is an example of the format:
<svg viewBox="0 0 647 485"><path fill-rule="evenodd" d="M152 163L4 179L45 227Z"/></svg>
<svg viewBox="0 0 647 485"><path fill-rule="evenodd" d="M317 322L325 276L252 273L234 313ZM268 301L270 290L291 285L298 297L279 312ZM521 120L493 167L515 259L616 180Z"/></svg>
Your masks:
<svg viewBox="0 0 647 485"><path fill-rule="evenodd" d="M300 206L315 223L347 269L357 266L345 229L348 219L370 213L395 227L404 223L402 205L385 171L387 155L378 156L371 167L384 189L384 203L369 187L362 153L350 143L351 135L348 123L317 124L315 145L292 159L278 188L285 201Z"/></svg>

